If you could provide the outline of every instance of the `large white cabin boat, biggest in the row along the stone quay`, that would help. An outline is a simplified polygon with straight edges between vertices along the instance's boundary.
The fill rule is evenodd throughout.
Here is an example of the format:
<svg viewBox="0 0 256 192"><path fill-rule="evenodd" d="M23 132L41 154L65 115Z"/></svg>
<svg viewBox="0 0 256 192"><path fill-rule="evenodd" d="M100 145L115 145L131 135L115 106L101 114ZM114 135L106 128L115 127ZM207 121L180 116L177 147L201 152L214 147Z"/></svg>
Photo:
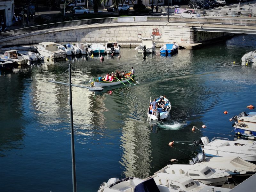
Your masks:
<svg viewBox="0 0 256 192"><path fill-rule="evenodd" d="M35 45L35 49L41 56L50 59L61 59L67 57L67 52L58 49L57 44L54 42L42 42L39 45Z"/></svg>

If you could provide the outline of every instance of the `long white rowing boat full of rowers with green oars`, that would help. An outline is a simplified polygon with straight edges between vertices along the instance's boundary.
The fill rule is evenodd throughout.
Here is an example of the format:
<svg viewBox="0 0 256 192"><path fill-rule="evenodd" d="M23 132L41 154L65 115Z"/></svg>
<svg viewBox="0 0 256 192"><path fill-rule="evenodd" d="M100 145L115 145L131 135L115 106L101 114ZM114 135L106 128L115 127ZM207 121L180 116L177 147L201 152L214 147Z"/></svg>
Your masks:
<svg viewBox="0 0 256 192"><path fill-rule="evenodd" d="M107 73L106 76L99 75L98 79L93 78L93 82L91 83L94 87L108 87L114 86L118 84L130 83L130 80L134 82L134 69L129 72L126 71L118 71L116 73L112 72L111 74Z"/></svg>

